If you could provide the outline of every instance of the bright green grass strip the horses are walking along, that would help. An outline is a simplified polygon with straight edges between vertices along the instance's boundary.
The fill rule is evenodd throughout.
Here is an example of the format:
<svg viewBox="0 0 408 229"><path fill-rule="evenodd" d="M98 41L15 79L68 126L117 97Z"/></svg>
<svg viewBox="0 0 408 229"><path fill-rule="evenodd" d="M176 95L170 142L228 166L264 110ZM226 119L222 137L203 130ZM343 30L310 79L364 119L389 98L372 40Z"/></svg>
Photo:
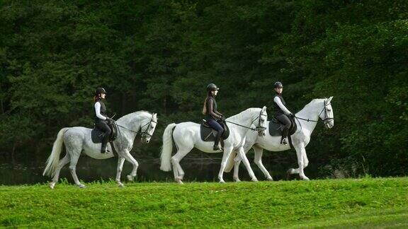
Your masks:
<svg viewBox="0 0 408 229"><path fill-rule="evenodd" d="M0 226L408 228L408 177L0 186Z"/></svg>

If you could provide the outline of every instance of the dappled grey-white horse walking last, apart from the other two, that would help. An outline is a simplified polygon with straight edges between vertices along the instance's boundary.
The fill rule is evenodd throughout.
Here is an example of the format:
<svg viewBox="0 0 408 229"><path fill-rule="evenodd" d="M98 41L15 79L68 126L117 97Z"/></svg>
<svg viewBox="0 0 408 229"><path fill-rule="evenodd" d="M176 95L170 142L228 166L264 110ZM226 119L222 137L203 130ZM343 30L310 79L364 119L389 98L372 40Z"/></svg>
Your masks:
<svg viewBox="0 0 408 229"><path fill-rule="evenodd" d="M133 112L118 119L116 124L119 126L118 137L112 141L113 147L118 153L118 170L115 181L119 187L123 187L122 182L120 182L120 173L122 172L125 160L128 160L128 162L133 165L132 172L127 176L130 181L136 177L137 167L139 166L135 158L130 154L133 141L135 141L136 135L140 133L142 142L149 143L154 129L157 126L157 114L146 111ZM76 172L79 155L81 155L82 152L96 159L113 157L111 144L108 144L108 150L111 151L110 153L101 153L101 143L94 143L92 141L91 131L92 129L85 127L67 127L62 128L60 132L58 132L57 139L52 146L51 155L47 159L47 166L42 173L42 175L53 176L52 182L50 182L51 189L53 189L55 183L58 182L61 168L67 165L67 163L70 163L69 170L71 171L75 184L81 188L85 187L84 184L79 182ZM62 143L65 144L67 153L64 158L60 160Z"/></svg>

